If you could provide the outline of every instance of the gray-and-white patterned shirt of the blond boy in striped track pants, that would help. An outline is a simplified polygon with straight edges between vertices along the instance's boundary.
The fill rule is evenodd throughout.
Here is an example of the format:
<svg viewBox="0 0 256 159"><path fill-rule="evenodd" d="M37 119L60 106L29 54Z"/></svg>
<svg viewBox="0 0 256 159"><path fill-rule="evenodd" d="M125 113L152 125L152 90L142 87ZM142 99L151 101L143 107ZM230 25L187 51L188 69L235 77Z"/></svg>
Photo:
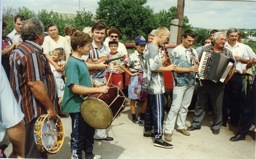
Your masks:
<svg viewBox="0 0 256 159"><path fill-rule="evenodd" d="M147 90L148 94L165 93L163 72L152 72L162 66L162 58L159 47L150 43L144 53L145 65L143 72L142 89Z"/></svg>

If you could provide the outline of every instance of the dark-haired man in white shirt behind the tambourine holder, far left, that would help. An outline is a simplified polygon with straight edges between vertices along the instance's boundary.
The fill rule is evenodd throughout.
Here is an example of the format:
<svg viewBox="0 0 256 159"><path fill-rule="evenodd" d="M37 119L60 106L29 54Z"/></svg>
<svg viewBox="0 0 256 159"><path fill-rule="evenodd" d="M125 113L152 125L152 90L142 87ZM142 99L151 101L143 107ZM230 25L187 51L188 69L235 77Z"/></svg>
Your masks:
<svg viewBox="0 0 256 159"><path fill-rule="evenodd" d="M23 15L17 14L14 17L14 29L12 32L10 32L10 34L8 34L7 36L10 38L10 40L12 41L12 43L21 43L22 39L21 39L21 25L23 23L23 21L26 20L25 17Z"/></svg>

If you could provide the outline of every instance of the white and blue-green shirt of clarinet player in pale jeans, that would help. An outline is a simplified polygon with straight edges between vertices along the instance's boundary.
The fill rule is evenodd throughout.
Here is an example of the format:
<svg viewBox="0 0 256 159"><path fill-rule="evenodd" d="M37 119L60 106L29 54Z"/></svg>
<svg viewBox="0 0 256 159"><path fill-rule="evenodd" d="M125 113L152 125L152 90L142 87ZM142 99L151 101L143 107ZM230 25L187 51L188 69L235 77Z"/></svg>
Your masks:
<svg viewBox="0 0 256 159"><path fill-rule="evenodd" d="M193 54L197 58L197 51L193 49ZM189 68L192 66L192 52L190 49L186 49L181 44L175 47L171 56L173 57L173 64L183 68ZM174 80L173 80L174 81ZM195 72L177 73L177 81L181 86L195 86Z"/></svg>

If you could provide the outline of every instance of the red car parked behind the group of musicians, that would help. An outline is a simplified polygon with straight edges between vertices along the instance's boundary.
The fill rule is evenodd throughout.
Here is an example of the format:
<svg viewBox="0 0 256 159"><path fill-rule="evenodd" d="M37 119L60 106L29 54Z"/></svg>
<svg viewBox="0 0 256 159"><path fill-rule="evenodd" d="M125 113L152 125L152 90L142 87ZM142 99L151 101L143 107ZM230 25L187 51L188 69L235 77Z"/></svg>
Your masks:
<svg viewBox="0 0 256 159"><path fill-rule="evenodd" d="M177 45L171 45L171 44L166 44L166 48L168 49L168 52L172 52L172 50L176 47ZM128 55L134 52L135 48L135 43L128 43L125 44L125 47L127 49ZM169 112L170 107L172 105L172 90L173 90L173 82L172 82L172 72L163 72L163 79L164 79L164 86L165 86L165 97L168 100L165 100L164 106L165 110ZM125 73L125 88L128 88L129 84L129 75ZM197 91L197 85L195 87L194 95L191 101L191 104L189 106L189 110L193 110L195 108L195 101L196 101L196 91Z"/></svg>

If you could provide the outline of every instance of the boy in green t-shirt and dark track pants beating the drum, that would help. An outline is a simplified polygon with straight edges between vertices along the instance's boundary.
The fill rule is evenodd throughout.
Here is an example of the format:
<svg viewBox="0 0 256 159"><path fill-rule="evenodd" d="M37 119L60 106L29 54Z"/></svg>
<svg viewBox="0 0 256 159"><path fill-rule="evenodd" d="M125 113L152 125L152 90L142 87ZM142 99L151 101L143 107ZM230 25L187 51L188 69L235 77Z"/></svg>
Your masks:
<svg viewBox="0 0 256 159"><path fill-rule="evenodd" d="M87 124L81 116L80 105L83 99L80 95L93 93L108 93L109 87L92 87L88 67L82 55L88 55L93 38L84 32L75 32L71 36L73 54L67 61L65 73L67 76L63 96L62 111L70 113L72 121L72 133L70 147L74 159L82 158L82 151L85 152L85 159L101 159L101 156L93 154L93 135L95 129Z"/></svg>

